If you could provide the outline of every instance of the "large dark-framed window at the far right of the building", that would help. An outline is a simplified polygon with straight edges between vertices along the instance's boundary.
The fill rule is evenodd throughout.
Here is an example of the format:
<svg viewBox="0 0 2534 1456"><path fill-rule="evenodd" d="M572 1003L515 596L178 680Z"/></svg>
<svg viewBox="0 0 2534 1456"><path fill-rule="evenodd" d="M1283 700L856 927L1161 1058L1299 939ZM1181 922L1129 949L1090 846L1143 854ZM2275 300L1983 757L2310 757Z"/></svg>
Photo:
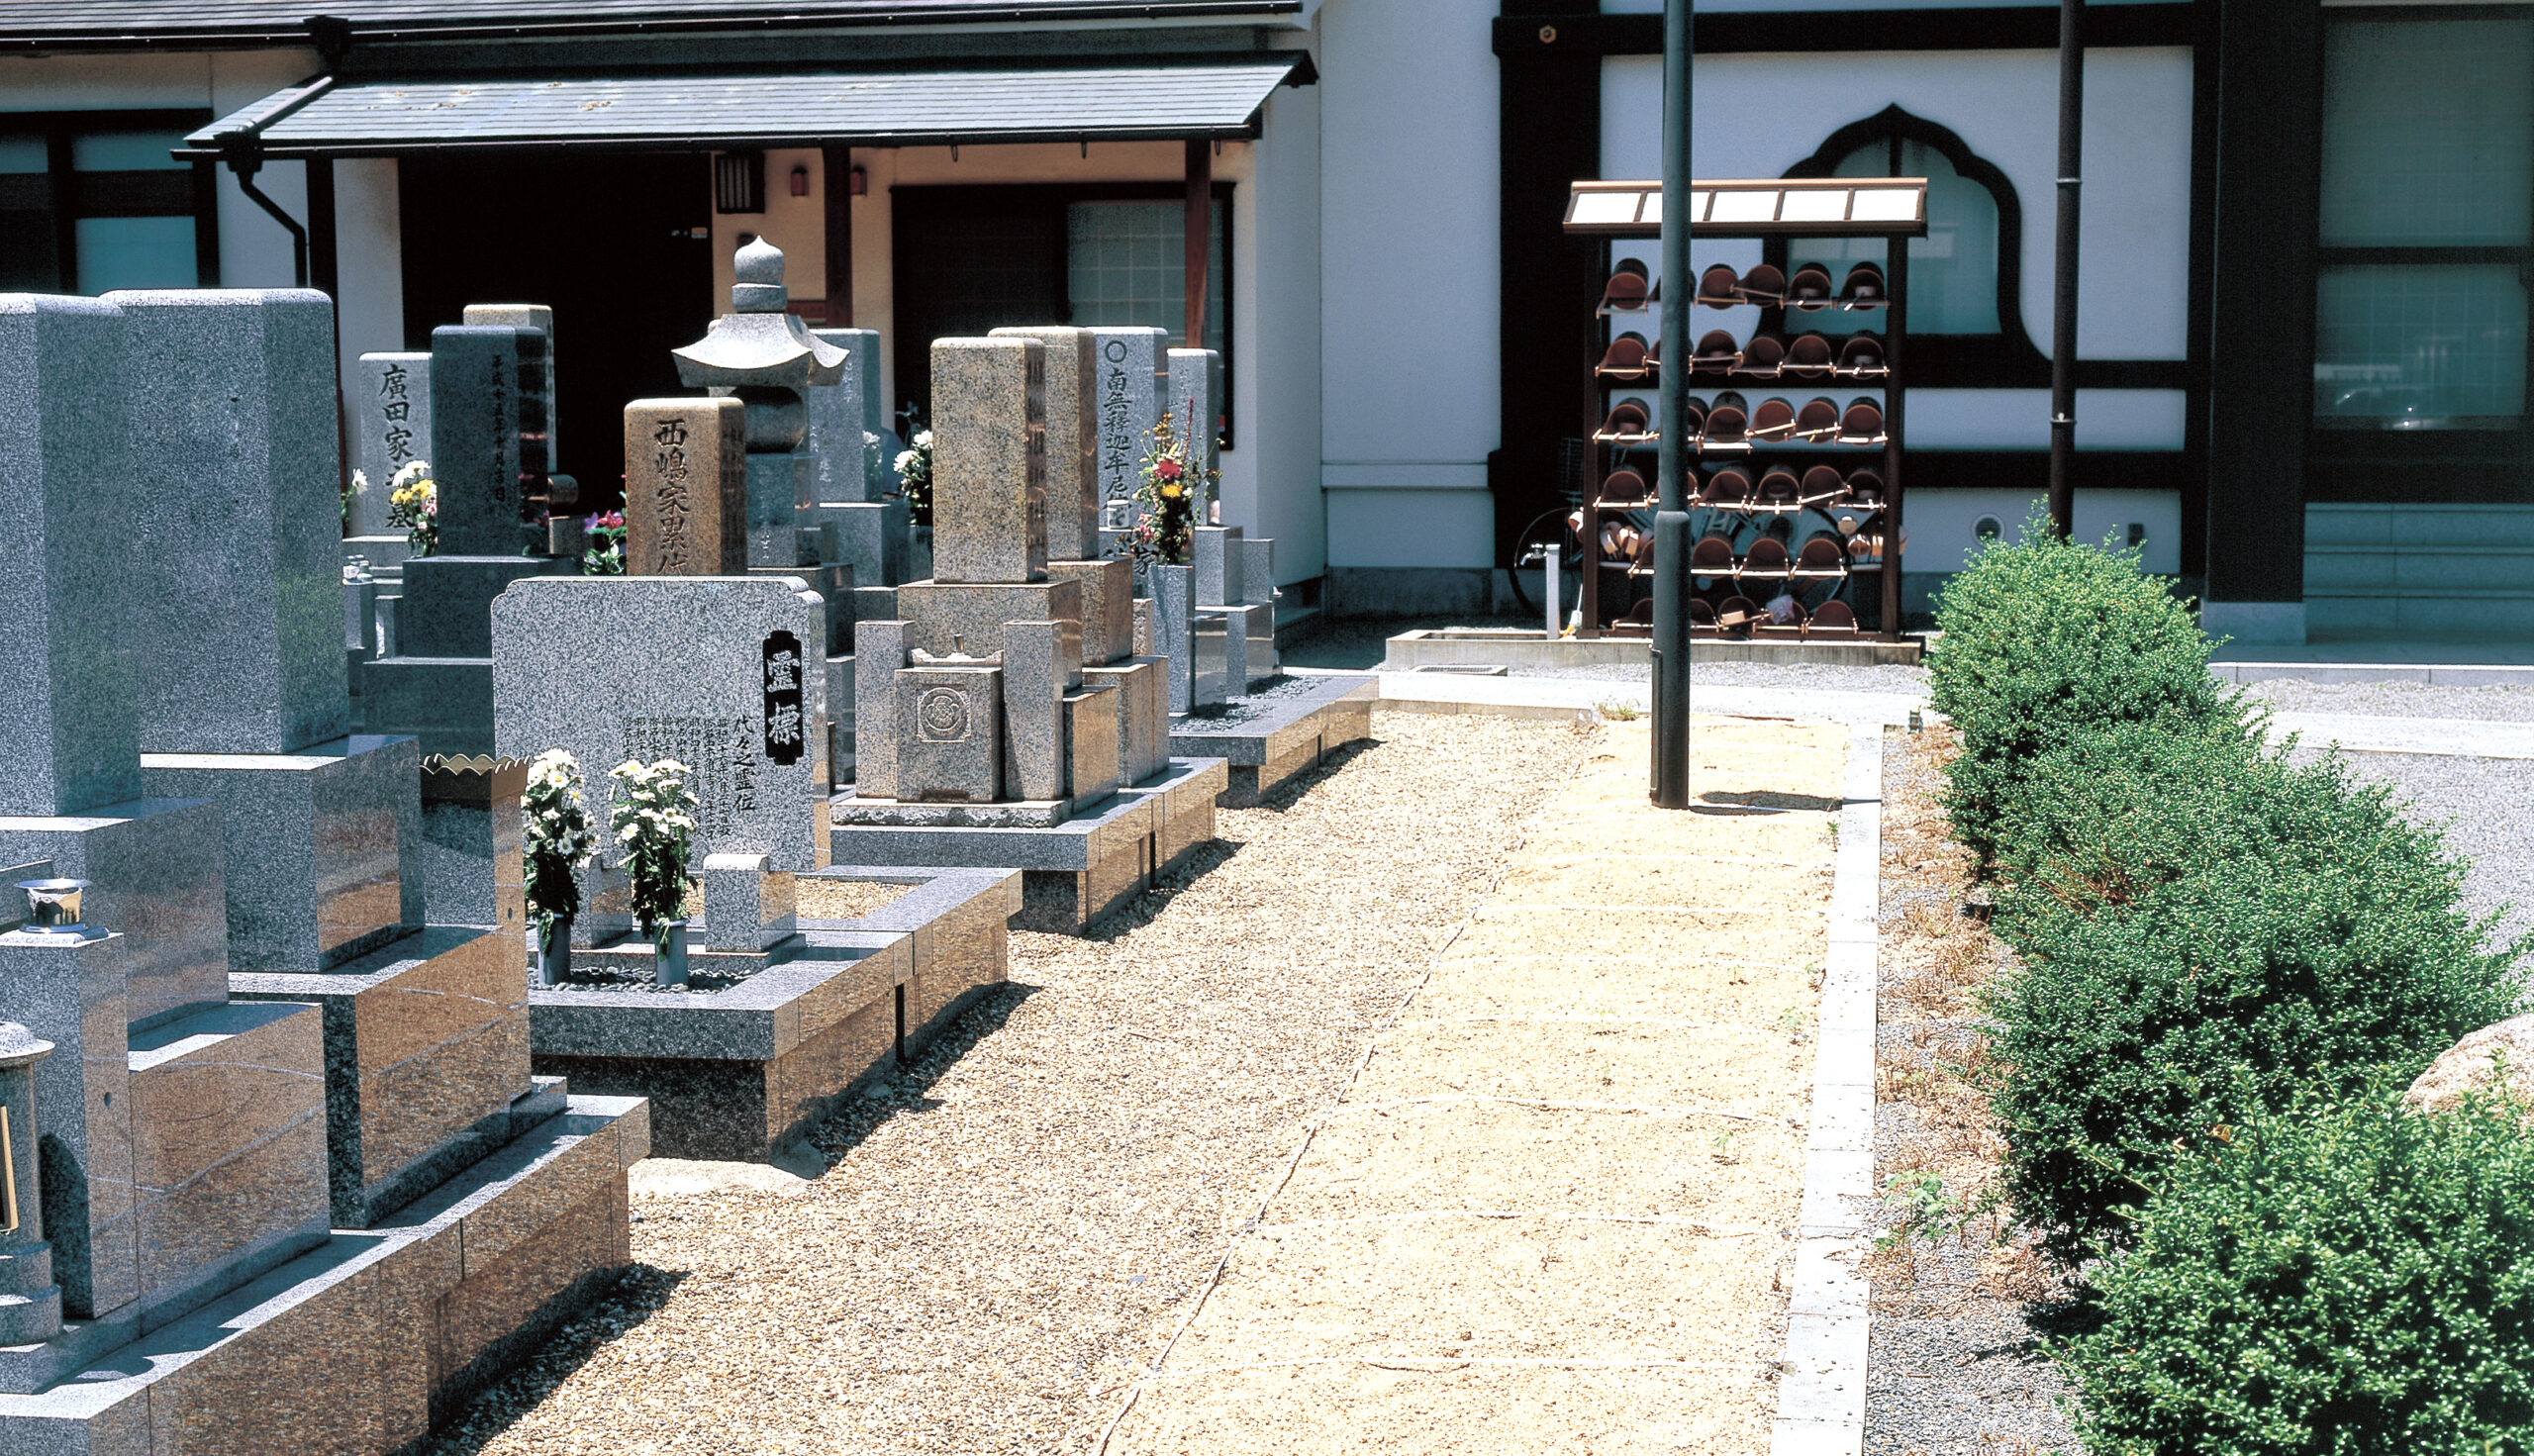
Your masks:
<svg viewBox="0 0 2534 1456"><path fill-rule="evenodd" d="M2521 428L2534 15L2334 15L2321 149L2314 420Z"/></svg>

